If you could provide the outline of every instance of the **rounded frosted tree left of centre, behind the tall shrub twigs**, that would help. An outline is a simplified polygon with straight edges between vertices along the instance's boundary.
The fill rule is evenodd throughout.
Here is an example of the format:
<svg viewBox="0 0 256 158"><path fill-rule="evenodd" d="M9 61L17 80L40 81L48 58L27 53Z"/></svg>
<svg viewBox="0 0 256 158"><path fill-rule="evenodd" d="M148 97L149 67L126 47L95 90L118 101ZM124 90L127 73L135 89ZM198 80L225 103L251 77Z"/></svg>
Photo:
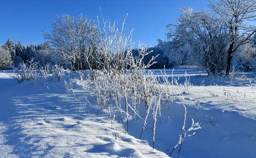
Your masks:
<svg viewBox="0 0 256 158"><path fill-rule="evenodd" d="M58 16L52 22L52 31L44 32L54 53L60 62L72 70L95 68L95 45L99 43L99 26L82 15L76 18L71 15Z"/></svg>

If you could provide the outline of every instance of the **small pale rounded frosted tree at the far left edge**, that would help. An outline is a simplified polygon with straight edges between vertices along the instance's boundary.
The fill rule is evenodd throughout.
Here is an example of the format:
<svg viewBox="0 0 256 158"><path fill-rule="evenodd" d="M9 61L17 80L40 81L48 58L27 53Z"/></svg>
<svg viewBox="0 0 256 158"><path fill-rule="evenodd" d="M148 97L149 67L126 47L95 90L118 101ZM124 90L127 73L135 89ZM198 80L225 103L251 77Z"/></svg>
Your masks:
<svg viewBox="0 0 256 158"><path fill-rule="evenodd" d="M4 68L8 67L9 65L12 64L12 55L11 53L4 49L0 45L0 70L3 70Z"/></svg>

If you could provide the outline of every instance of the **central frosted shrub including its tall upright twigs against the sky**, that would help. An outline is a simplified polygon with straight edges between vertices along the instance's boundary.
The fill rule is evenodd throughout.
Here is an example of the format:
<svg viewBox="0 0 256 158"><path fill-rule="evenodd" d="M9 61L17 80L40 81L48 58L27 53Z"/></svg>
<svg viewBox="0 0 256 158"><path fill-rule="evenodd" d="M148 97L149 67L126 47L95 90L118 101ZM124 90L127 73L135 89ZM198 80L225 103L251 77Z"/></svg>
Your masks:
<svg viewBox="0 0 256 158"><path fill-rule="evenodd" d="M109 27L104 25L101 42L96 48L97 58L101 59L98 61L100 70L92 71L90 77L82 77L82 80L76 80L76 83L82 85L90 95L96 96L97 115L99 110L105 110L107 105L111 120L113 120L112 116L120 113L122 121L127 122L127 132L129 132L129 118L132 118L132 115L133 120L140 118L143 121L141 136L147 125L147 119L152 118L154 148L156 122L161 122L161 104L163 105L163 101L169 104L174 97L182 95L182 87L183 91L190 93L191 84L189 78L186 78L183 85L174 78L170 83L166 74L162 83L162 78L151 71L145 71L156 63L154 60L157 55L152 56L150 62L144 64L143 58L152 51L147 51L148 48L142 47L140 43L139 55L133 56L130 36L124 37L123 27L120 31L115 28L115 24L111 26L109 23ZM174 85L176 85L175 90ZM144 118L139 112L139 106L143 102L147 108Z"/></svg>

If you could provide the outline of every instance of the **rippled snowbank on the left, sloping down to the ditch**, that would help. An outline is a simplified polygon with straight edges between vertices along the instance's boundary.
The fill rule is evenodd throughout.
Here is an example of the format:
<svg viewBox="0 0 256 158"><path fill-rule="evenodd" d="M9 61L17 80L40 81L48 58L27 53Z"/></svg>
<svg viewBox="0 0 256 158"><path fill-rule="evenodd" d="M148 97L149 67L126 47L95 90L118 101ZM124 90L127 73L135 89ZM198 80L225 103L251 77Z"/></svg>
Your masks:
<svg viewBox="0 0 256 158"><path fill-rule="evenodd" d="M13 82L1 95L8 106L1 105L6 109L5 114L1 112L3 157L166 156L152 150L146 141L125 133L118 122L115 140L109 114L100 111L96 116L95 107L84 100L88 96L74 83L75 97L73 92L65 90L63 81L50 81L46 85L5 80ZM92 103L94 99L87 98Z"/></svg>

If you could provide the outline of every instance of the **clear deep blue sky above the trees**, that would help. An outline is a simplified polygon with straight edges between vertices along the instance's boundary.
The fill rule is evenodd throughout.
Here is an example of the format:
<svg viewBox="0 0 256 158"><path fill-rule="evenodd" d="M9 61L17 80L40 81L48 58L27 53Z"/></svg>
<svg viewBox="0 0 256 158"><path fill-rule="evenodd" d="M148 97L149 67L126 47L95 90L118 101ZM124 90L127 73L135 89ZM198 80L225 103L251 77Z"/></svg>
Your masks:
<svg viewBox="0 0 256 158"><path fill-rule="evenodd" d="M166 24L175 24L179 18L180 8L207 8L208 0L6 0L0 3L0 44L10 38L13 42L21 41L22 45L45 42L43 30L50 31L51 21L56 15L70 14L79 17L82 13L90 19L101 15L121 25L126 14L125 32L133 28L133 41L146 46L154 46L157 39L164 40ZM120 26L121 27L121 26Z"/></svg>

